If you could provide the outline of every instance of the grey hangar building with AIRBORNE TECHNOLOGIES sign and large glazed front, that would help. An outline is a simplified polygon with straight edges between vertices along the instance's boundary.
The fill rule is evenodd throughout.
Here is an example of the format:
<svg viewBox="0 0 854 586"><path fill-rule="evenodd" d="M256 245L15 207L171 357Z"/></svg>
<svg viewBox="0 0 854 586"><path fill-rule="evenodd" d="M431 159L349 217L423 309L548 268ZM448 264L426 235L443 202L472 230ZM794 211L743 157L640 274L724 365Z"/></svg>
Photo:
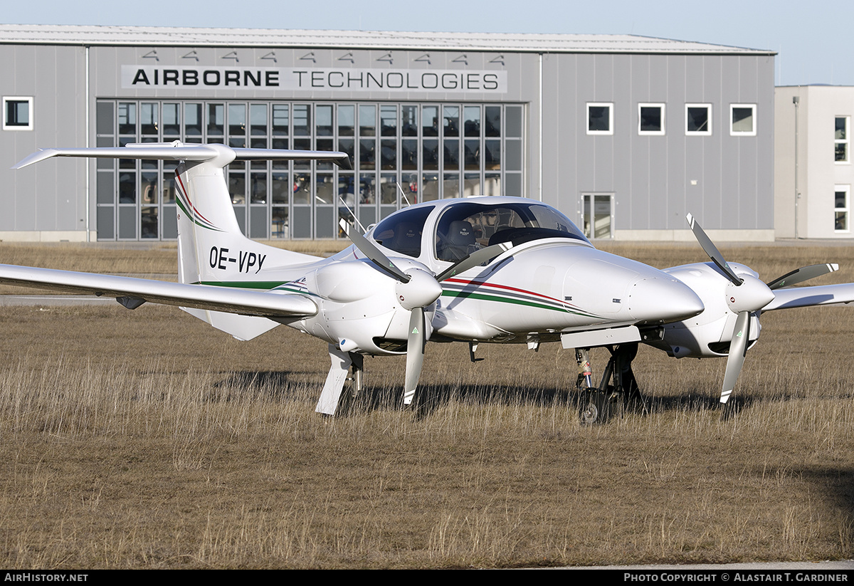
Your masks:
<svg viewBox="0 0 854 586"><path fill-rule="evenodd" d="M254 238L337 237L438 197L519 195L588 234L774 237L774 56L629 35L0 25L0 238L176 237L173 168L37 148L339 149L235 163Z"/></svg>

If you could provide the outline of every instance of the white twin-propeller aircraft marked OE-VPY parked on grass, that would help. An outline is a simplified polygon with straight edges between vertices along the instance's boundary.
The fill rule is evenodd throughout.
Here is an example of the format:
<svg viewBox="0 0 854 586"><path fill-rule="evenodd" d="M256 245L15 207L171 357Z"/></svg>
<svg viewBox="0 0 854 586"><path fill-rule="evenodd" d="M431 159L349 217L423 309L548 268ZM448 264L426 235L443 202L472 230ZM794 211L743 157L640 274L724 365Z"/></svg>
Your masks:
<svg viewBox="0 0 854 586"><path fill-rule="evenodd" d="M179 161L179 283L11 265L0 265L0 282L111 296L130 309L176 305L241 340L283 324L319 337L331 365L316 410L329 415L348 375L354 393L361 390L365 355L407 355L403 403L411 403L428 341L468 343L471 360L480 343L575 349L585 423L637 396L631 364L639 343L676 358L727 356L725 403L762 312L854 301L851 283L791 288L836 270L832 264L764 284L750 268L724 261L690 214L711 262L664 270L597 250L556 209L506 196L421 202L364 235L342 220L353 245L319 258L244 237L223 168L236 160L349 167L344 153L176 141L43 149L13 168L54 156ZM346 209L339 211L352 218ZM598 386L588 360L594 347L611 353Z"/></svg>

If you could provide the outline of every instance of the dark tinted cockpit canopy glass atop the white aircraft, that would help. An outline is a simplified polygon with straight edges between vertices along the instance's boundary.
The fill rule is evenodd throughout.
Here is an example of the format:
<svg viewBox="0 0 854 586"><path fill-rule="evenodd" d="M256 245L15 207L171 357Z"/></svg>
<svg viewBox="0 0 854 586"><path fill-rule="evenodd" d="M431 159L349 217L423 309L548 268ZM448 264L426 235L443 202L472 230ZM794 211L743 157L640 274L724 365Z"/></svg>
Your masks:
<svg viewBox="0 0 854 586"><path fill-rule="evenodd" d="M403 209L377 224L373 237L401 255L421 255L424 226L436 206ZM539 202L454 202L442 210L433 235L433 254L455 262L477 249L512 242L518 245L541 238L589 241L558 210ZM428 243L428 246L430 243Z"/></svg>

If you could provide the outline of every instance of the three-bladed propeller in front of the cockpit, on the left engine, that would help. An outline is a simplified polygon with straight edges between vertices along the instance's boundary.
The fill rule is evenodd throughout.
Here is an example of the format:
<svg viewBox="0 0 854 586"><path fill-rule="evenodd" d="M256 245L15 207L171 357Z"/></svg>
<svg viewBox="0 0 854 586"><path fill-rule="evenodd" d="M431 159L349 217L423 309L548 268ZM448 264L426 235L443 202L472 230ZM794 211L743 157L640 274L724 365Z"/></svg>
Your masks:
<svg viewBox="0 0 854 586"><path fill-rule="evenodd" d="M442 295L442 285L447 278L451 278L460 272L467 271L472 267L482 265L493 259L502 252L512 248L512 243L493 244L483 249L478 249L471 255L455 262L438 275L412 267L409 272L403 272L395 266L388 256L377 247L376 243L362 236L353 226L345 220L341 220L340 226L354 243L360 253L389 277L397 280L395 291L401 307L410 311L409 331L407 334L407 373L404 385L403 403L409 405L415 396L418 387L418 378L421 376L421 368L424 366L424 346L427 343L427 321L424 310L436 302Z"/></svg>

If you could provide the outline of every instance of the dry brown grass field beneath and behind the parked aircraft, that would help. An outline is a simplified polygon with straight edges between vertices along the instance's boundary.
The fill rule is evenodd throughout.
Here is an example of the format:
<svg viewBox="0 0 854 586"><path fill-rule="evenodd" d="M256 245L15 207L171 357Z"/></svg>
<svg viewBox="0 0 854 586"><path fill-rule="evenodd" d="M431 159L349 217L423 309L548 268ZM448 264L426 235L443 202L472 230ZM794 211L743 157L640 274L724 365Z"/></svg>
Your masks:
<svg viewBox="0 0 854 586"><path fill-rule="evenodd" d="M133 250L116 271L87 256L102 249L68 247L61 267L174 271L173 249ZM56 261L25 248L15 262ZM608 249L705 260L689 245ZM817 282L854 281L849 249L722 251L765 280L839 261ZM585 427L558 344L482 345L477 364L464 344L429 344L415 409L400 407L404 360L368 359L366 391L328 419L313 413L325 343L284 326L239 343L176 308L0 308L0 565L851 558L854 308L762 324L727 416L723 360L641 348L648 413Z"/></svg>

